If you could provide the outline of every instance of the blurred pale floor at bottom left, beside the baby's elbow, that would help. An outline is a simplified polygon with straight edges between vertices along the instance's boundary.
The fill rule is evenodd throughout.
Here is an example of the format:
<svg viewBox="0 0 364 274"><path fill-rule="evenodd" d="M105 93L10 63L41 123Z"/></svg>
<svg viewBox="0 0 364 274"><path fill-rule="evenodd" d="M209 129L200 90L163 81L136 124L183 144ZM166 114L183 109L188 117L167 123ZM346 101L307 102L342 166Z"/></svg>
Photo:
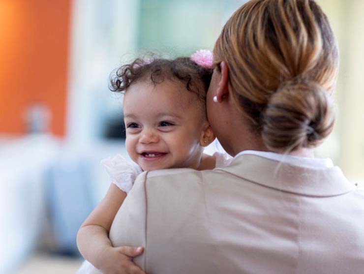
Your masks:
<svg viewBox="0 0 364 274"><path fill-rule="evenodd" d="M81 263L80 258L39 253L32 255L15 274L74 274Z"/></svg>

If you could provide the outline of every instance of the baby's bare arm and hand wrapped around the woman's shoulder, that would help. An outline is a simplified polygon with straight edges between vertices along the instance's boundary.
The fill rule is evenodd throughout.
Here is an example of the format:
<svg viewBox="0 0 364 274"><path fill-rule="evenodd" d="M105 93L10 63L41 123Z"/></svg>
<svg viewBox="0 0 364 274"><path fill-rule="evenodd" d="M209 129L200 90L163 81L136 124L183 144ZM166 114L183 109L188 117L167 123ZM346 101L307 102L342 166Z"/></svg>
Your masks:
<svg viewBox="0 0 364 274"><path fill-rule="evenodd" d="M111 224L125 197L126 193L111 183L106 196L77 234L77 246L82 256L103 274L145 274L131 261L131 257L143 252L143 247L113 247L108 238Z"/></svg>

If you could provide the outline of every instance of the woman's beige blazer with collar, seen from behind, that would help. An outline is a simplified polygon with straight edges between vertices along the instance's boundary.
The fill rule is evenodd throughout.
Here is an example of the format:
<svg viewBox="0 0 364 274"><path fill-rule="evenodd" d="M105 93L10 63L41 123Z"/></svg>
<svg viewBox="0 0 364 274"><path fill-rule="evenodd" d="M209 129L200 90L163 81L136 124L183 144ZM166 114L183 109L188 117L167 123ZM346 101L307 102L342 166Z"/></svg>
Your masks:
<svg viewBox="0 0 364 274"><path fill-rule="evenodd" d="M337 167L243 154L213 171L144 173L129 195L110 239L144 245L147 273L364 269L364 190Z"/></svg>

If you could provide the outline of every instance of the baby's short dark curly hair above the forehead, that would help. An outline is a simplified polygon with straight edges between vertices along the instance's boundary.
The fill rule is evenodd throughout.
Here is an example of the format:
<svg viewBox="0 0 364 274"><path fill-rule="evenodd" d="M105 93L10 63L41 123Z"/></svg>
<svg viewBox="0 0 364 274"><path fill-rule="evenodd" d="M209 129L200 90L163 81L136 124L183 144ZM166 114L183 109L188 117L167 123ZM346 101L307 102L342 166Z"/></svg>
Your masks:
<svg viewBox="0 0 364 274"><path fill-rule="evenodd" d="M130 85L140 80L150 78L152 83L156 85L165 79L177 79L185 83L188 91L195 93L201 101L205 102L211 77L212 69L202 67L187 57L173 60L161 58L143 60L138 58L111 73L109 89L125 92Z"/></svg>

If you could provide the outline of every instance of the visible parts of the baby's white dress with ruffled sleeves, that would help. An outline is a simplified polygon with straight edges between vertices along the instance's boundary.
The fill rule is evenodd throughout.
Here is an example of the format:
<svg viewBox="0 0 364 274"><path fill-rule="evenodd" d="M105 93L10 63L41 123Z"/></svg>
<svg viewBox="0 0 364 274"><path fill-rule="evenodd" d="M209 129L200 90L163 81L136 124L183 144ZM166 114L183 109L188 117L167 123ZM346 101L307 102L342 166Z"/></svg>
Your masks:
<svg viewBox="0 0 364 274"><path fill-rule="evenodd" d="M215 168L228 166L233 157L224 152L215 152ZM139 165L126 160L120 154L114 157L103 159L101 164L105 167L110 176L110 181L116 184L122 191L128 193L133 187L133 183L137 176L143 172ZM76 274L102 274L89 261L84 261Z"/></svg>

